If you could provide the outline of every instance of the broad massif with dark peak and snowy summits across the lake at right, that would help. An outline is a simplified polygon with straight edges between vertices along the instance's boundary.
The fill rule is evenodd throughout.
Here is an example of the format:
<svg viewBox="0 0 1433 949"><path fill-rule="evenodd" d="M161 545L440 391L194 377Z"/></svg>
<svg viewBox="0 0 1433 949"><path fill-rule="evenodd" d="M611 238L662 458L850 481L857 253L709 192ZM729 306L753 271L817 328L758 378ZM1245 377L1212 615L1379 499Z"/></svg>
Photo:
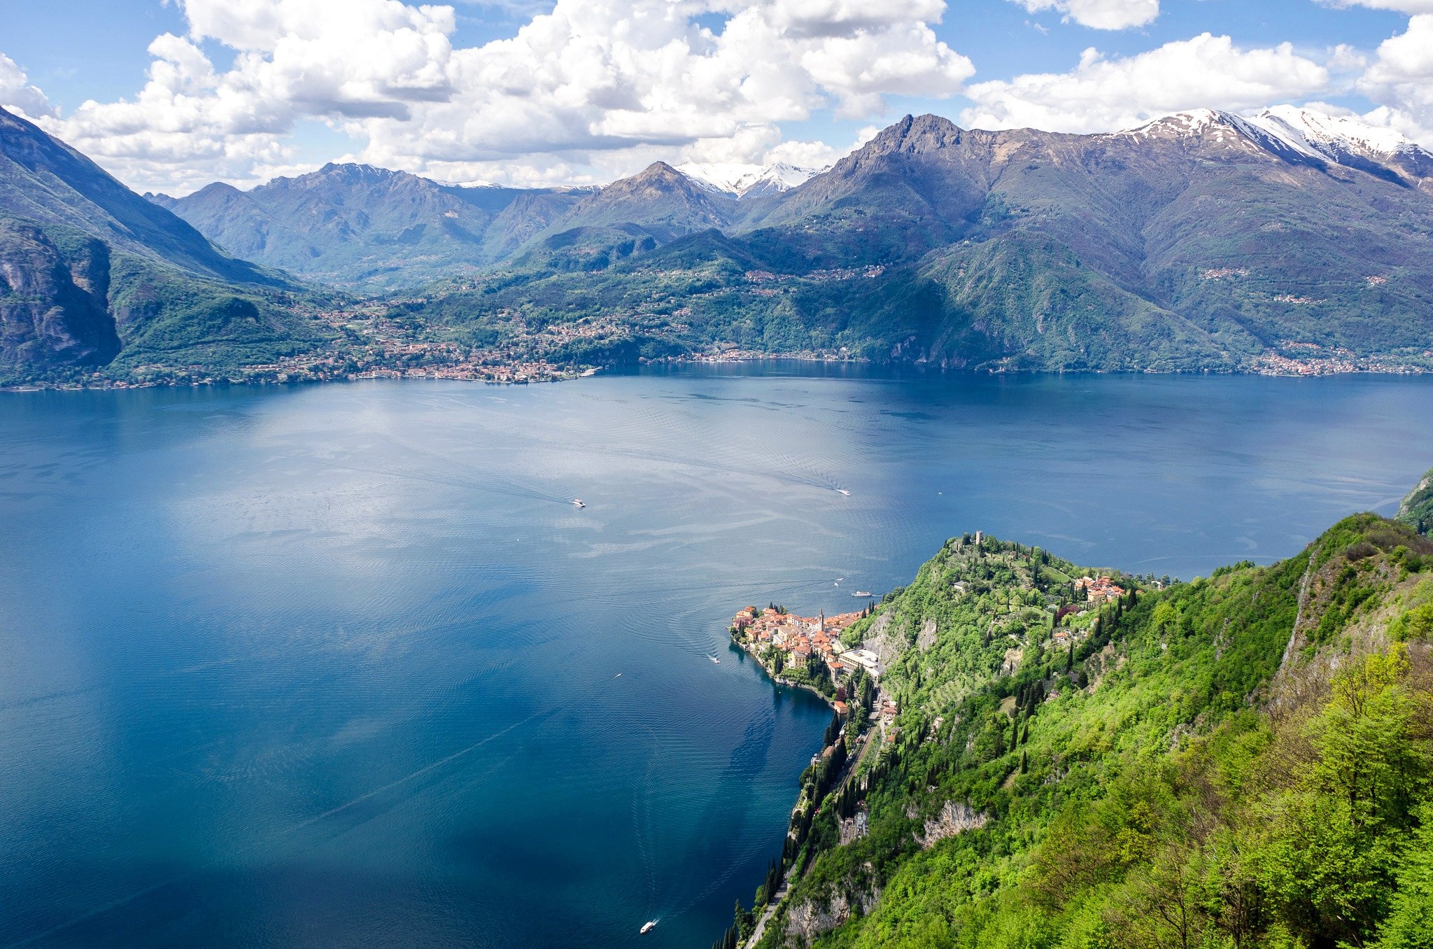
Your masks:
<svg viewBox="0 0 1433 949"><path fill-rule="evenodd" d="M427 313L463 331L580 311L631 321L652 354L1433 366L1433 156L1300 115L1201 110L1112 135L907 116L798 188L711 206L675 171L649 169L642 201L599 219L606 232L573 218L542 238L580 242L579 255L529 251L474 287L436 290L451 300ZM631 195L632 181L589 201ZM653 215L674 226L635 224L648 204L679 209Z"/></svg>

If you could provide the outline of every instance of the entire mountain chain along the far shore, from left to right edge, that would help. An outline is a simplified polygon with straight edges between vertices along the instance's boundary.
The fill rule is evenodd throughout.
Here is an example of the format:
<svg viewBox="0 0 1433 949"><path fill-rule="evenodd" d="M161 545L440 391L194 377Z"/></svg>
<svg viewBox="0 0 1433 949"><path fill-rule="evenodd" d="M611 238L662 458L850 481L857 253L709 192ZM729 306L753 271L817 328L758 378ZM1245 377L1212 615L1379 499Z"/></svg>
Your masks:
<svg viewBox="0 0 1433 949"><path fill-rule="evenodd" d="M328 165L149 202L3 119L9 366L103 364L155 317L186 327L183 345L226 338L183 307L136 311L129 275L85 277L105 267L75 235L242 295L271 340L302 337L251 292L282 270L365 295L477 281L436 284L406 315L474 344L513 313L605 320L616 338L582 353L595 363L738 347L1032 370L1433 366L1433 155L1290 106L1106 135L907 116L820 172L656 162L605 188L516 189Z"/></svg>

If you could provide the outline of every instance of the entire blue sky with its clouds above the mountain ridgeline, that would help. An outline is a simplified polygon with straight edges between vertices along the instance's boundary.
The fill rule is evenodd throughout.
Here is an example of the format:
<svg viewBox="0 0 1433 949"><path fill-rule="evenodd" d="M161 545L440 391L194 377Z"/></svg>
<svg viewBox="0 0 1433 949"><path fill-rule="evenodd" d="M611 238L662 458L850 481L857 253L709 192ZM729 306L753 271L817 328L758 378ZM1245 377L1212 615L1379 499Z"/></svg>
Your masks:
<svg viewBox="0 0 1433 949"><path fill-rule="evenodd" d="M824 163L907 112L1088 132L1294 102L1433 143L1433 0L446 10L0 0L0 105L128 183L176 194L335 159L519 183L606 181L656 158Z"/></svg>

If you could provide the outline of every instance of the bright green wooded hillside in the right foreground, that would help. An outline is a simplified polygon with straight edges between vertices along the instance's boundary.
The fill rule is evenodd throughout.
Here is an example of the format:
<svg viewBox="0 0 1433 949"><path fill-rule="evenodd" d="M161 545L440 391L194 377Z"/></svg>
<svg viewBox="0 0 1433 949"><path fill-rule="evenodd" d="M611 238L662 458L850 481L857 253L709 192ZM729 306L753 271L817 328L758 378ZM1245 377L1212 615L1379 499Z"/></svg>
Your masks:
<svg viewBox="0 0 1433 949"><path fill-rule="evenodd" d="M1433 945L1433 542L1358 515L1273 566L1092 573L959 538L848 631L900 711L794 816L759 945Z"/></svg>

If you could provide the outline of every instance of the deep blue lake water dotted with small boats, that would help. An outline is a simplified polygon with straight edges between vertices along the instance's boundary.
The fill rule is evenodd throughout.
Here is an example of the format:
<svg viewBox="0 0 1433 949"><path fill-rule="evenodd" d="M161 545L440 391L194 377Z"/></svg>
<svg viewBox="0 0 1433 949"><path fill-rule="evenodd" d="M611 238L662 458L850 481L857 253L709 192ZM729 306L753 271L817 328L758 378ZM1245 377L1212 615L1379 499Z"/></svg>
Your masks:
<svg viewBox="0 0 1433 949"><path fill-rule="evenodd" d="M0 945L705 946L828 720L737 608L974 529L1268 562L1391 510L1430 419L1416 378L802 367L3 396Z"/></svg>

